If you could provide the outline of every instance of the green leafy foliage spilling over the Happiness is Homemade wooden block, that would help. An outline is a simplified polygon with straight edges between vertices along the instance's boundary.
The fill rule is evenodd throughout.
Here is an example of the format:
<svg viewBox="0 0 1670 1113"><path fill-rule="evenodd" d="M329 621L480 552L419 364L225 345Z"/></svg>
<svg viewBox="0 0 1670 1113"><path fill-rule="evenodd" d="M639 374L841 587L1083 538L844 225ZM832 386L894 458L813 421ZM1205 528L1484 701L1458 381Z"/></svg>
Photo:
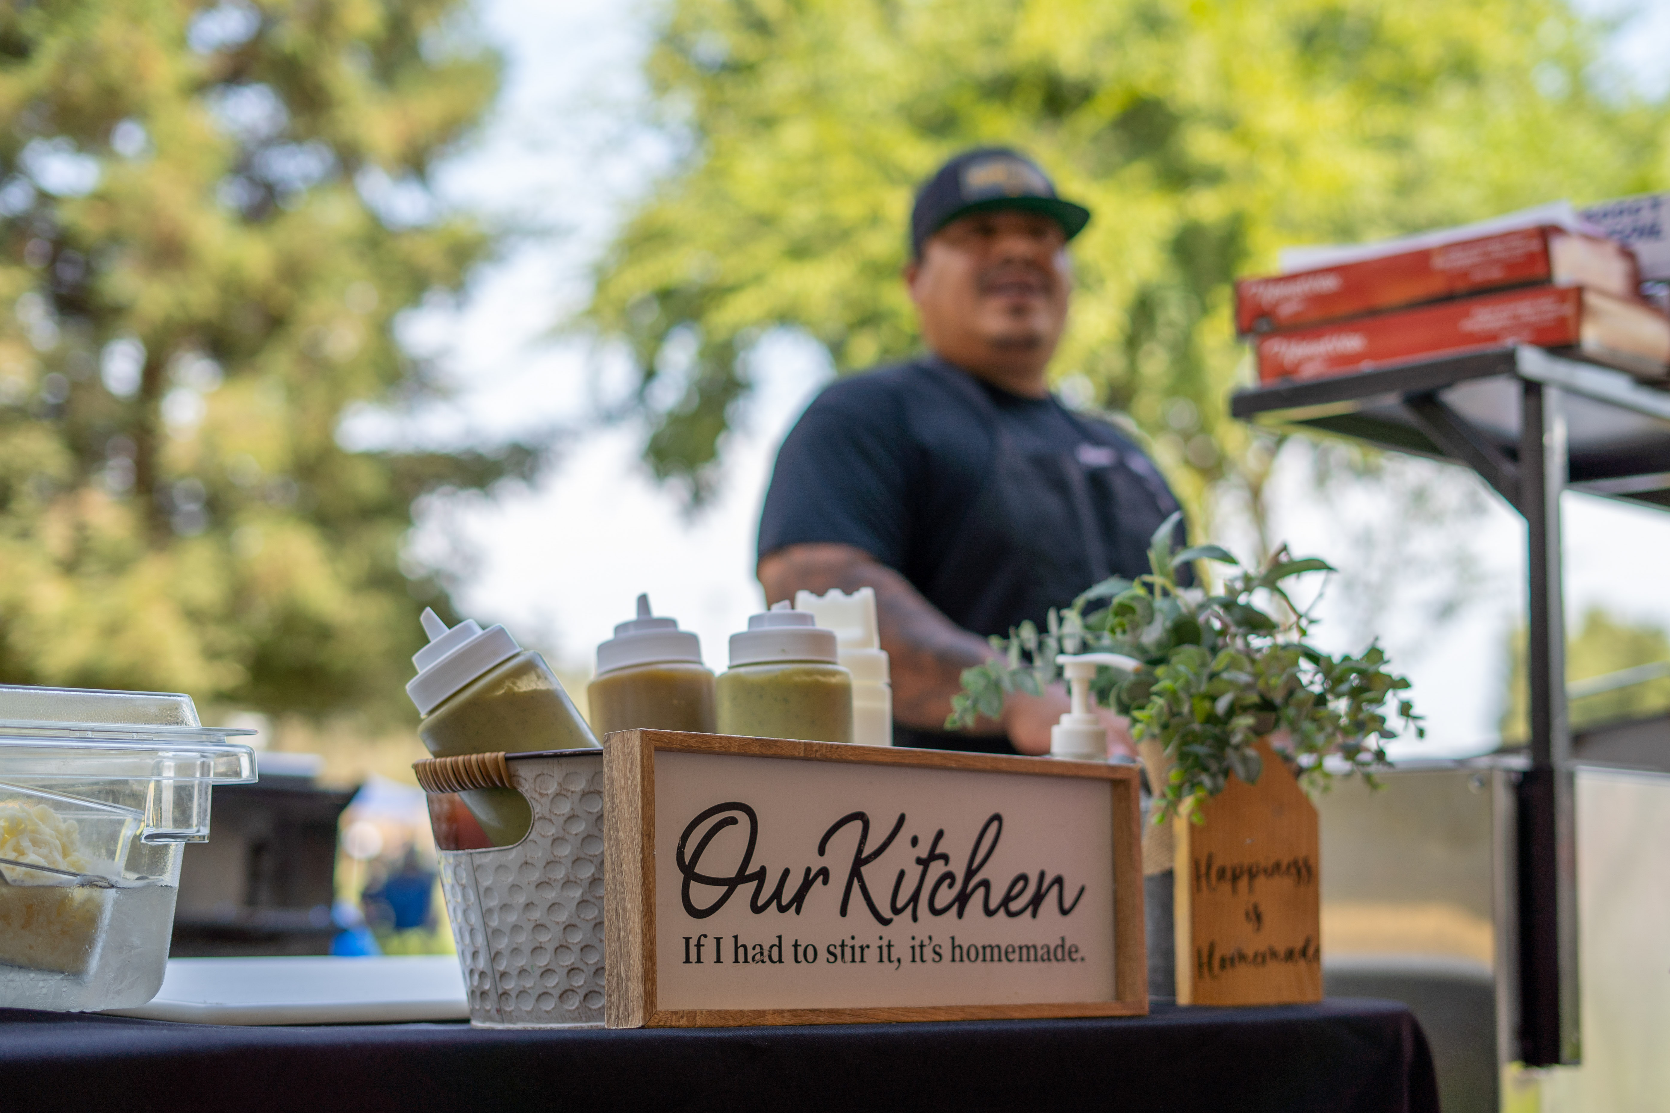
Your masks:
<svg viewBox="0 0 1670 1113"><path fill-rule="evenodd" d="M1052 609L1045 629L1022 622L1009 637L992 637L999 656L962 672L947 729L995 718L1004 694L1039 694L1060 679L1059 654L1117 652L1142 662L1137 672L1101 669L1097 699L1131 718L1142 749L1159 748L1164 783L1152 784L1156 821L1191 814L1224 791L1229 776L1256 783L1256 743L1274 749L1311 788L1338 773L1389 764L1384 743L1398 738L1391 714L1416 736L1420 716L1404 698L1409 681L1389 672L1371 644L1359 656L1334 656L1308 641L1313 619L1284 584L1304 572L1331 572L1318 557L1293 557L1286 546L1263 569L1244 569L1214 544L1172 549L1172 516L1149 544L1149 574L1107 579L1065 609ZM1217 591L1184 587L1179 572L1192 561L1234 569ZM1388 703L1391 708L1388 708ZM1339 758L1328 763L1326 758Z"/></svg>

